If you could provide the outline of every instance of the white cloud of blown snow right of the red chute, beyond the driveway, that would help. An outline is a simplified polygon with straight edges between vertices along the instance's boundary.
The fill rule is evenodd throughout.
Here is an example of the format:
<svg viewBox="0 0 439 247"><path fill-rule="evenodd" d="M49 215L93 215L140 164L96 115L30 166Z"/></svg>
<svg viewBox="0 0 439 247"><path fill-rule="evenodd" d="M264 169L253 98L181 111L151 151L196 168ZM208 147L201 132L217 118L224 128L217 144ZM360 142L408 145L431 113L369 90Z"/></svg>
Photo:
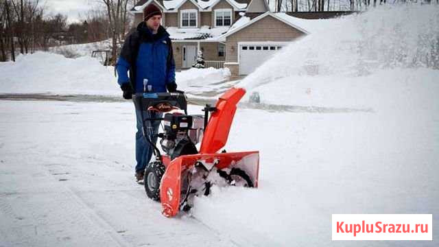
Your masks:
<svg viewBox="0 0 439 247"><path fill-rule="evenodd" d="M310 34L240 84L247 95L259 92L263 103L375 107L401 90L416 89L416 82L433 86L439 78L436 5L383 6L341 19L290 22ZM404 89L398 82L406 83Z"/></svg>

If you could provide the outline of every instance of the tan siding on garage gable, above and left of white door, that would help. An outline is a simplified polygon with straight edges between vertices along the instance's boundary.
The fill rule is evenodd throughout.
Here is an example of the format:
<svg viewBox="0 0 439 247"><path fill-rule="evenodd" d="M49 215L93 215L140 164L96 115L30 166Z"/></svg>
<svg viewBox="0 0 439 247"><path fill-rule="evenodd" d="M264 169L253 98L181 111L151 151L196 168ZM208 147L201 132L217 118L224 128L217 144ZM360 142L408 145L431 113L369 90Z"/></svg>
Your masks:
<svg viewBox="0 0 439 247"><path fill-rule="evenodd" d="M294 27L278 21L272 16L265 16L263 19L226 37L226 62L238 61L238 42L285 42L294 40L302 35L304 33L296 30Z"/></svg>

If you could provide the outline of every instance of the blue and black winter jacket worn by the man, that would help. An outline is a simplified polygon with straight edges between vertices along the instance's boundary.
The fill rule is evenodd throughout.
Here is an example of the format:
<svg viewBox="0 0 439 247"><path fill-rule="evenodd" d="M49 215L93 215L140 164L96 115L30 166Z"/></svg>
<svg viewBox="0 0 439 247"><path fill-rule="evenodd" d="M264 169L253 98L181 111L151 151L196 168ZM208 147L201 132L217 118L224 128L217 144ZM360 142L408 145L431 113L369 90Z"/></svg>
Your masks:
<svg viewBox="0 0 439 247"><path fill-rule="evenodd" d="M160 26L157 34L152 34L145 22L141 22L137 30L126 38L116 69L119 85L130 83L135 93L144 89L166 92L167 84L174 84L176 88L176 66L171 39L165 28ZM147 79L146 87L144 79Z"/></svg>

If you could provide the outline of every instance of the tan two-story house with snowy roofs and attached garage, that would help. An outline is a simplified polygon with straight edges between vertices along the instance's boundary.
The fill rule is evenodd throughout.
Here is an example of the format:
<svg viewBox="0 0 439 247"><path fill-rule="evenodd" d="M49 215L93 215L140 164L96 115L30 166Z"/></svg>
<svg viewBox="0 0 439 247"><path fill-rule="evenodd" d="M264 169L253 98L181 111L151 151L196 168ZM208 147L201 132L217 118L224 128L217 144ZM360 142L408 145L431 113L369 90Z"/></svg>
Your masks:
<svg viewBox="0 0 439 247"><path fill-rule="evenodd" d="M143 21L143 9L150 3L163 12L178 69L191 67L202 51L207 66L247 75L307 34L290 16L270 12L265 0L141 0L131 10L134 25Z"/></svg>

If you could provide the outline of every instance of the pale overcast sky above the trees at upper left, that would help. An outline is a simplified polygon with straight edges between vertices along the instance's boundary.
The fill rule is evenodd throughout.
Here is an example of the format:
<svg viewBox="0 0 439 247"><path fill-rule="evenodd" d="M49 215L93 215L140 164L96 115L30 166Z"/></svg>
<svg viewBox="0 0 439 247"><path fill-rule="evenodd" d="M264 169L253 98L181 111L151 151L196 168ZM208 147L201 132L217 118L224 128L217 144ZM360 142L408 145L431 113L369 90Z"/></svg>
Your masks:
<svg viewBox="0 0 439 247"><path fill-rule="evenodd" d="M68 23L85 19L86 12L93 9L93 6L98 5L99 1L100 0L40 0L41 3L45 3L47 13L64 14L68 18Z"/></svg>

